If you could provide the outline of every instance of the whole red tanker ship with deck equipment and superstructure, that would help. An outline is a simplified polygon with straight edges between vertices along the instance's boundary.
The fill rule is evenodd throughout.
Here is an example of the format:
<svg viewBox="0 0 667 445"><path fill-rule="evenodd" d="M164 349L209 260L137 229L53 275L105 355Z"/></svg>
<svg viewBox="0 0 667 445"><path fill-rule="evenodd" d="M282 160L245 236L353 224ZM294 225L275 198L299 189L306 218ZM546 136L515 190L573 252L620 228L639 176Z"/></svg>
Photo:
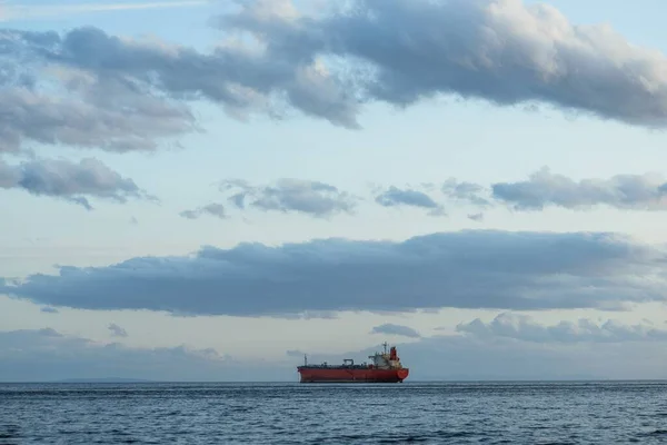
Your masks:
<svg viewBox="0 0 667 445"><path fill-rule="evenodd" d="M375 353L368 356L371 364L362 363L355 365L355 360L346 358L342 365L309 365L303 357L303 366L297 366L301 375L301 383L402 383L408 377L410 369L404 368L396 353L396 346L391 346L387 354L387 343L384 344L382 354Z"/></svg>

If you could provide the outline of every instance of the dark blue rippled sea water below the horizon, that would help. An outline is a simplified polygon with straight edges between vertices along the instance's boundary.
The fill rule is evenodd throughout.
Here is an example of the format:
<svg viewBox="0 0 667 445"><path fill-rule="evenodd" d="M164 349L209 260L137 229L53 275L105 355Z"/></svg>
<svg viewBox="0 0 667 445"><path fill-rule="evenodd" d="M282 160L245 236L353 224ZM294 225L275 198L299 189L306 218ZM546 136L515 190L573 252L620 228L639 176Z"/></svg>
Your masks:
<svg viewBox="0 0 667 445"><path fill-rule="evenodd" d="M667 443L667 383L0 384L0 444L402 443Z"/></svg>

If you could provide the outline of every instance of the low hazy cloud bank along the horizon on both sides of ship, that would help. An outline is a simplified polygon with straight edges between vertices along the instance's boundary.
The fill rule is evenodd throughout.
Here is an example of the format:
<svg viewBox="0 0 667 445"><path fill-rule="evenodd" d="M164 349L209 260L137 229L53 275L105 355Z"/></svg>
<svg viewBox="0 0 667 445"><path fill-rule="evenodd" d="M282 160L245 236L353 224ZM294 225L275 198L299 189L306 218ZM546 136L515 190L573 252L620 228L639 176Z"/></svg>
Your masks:
<svg viewBox="0 0 667 445"><path fill-rule="evenodd" d="M613 323L621 329L625 325ZM627 328L627 326L626 326ZM410 380L665 378L663 339L536 343L468 334L426 337L398 344ZM309 363L367 360L380 345L330 355L307 352ZM133 348L96 343L51 328L0 332L0 382L69 378L142 378L166 382L295 382L303 352L285 359L237 360L215 349L185 345Z"/></svg>

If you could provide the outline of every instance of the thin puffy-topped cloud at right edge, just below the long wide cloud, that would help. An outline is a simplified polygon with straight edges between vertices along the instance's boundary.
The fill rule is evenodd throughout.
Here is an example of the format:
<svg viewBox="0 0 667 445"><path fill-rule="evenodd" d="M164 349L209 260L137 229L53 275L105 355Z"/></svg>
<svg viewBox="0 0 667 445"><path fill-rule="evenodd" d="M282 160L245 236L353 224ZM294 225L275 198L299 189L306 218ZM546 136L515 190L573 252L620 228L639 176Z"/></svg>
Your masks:
<svg viewBox="0 0 667 445"><path fill-rule="evenodd" d="M648 325L624 325L616 320L607 320L599 325L590 319L560 322L545 326L531 317L516 314L500 314L490 323L479 318L459 324L457 332L475 337L505 337L535 343L620 343L667 340L667 330L656 329Z"/></svg>

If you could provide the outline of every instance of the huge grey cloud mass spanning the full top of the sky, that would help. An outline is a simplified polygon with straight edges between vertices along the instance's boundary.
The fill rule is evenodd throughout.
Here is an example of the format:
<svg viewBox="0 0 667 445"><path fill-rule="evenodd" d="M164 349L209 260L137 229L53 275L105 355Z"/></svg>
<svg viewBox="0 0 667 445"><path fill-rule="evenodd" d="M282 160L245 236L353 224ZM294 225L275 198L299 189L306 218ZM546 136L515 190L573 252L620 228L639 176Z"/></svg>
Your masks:
<svg viewBox="0 0 667 445"><path fill-rule="evenodd" d="M328 4L302 16L287 1L243 2L216 26L222 38L250 34L237 40L248 43L210 52L92 27L1 30L0 151L27 142L152 150L198 129L192 100L238 119L298 110L345 128L360 127L366 103L437 96L667 123L667 57L608 26L573 24L519 0Z"/></svg>

